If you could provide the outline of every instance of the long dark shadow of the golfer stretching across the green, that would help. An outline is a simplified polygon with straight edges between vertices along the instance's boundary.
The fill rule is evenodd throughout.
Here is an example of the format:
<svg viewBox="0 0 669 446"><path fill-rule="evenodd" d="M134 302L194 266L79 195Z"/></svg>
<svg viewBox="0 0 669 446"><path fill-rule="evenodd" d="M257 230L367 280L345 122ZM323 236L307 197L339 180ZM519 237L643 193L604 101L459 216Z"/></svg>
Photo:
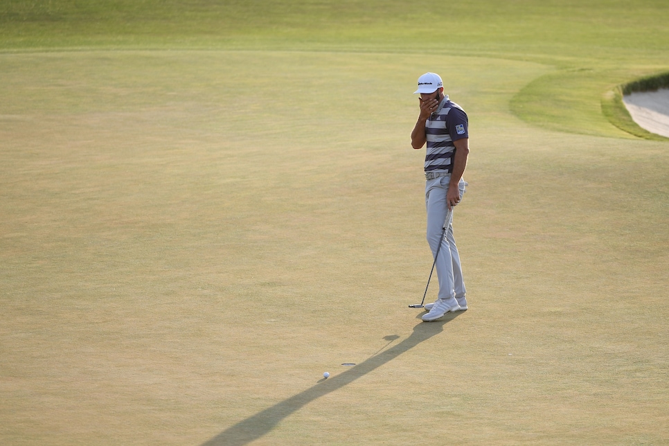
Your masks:
<svg viewBox="0 0 669 446"><path fill-rule="evenodd" d="M404 339L400 344L383 352L376 353L371 358L349 368L344 373L330 377L328 380L321 380L310 389L298 393L287 400L274 404L274 406L268 407L264 411L258 412L256 415L251 416L246 420L238 422L236 425L225 429L214 438L211 438L211 440L208 440L206 443L203 443L202 446L246 445L253 440L257 440L271 431L271 429L274 429L281 420L295 411L298 411L306 404L321 398L323 395L341 389L346 386L346 384L350 384L359 377L370 373L375 368L386 364L386 362L392 361L396 357L402 355L402 353L417 346L422 341L427 341L427 339L439 334L443 331L444 325L455 319L458 314L460 313L448 314L445 318L436 322L419 323L413 328L411 336Z"/></svg>

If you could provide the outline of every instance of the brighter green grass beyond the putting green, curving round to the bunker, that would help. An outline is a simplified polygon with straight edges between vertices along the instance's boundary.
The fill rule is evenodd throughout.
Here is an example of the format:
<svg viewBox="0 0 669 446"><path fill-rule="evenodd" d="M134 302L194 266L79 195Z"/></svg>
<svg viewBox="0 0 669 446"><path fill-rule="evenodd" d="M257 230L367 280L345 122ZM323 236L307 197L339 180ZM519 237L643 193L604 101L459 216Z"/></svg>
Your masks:
<svg viewBox="0 0 669 446"><path fill-rule="evenodd" d="M669 41L666 5L635 1L632 9L618 0L474 1L449 5L440 17L405 1L12 0L0 5L0 48L373 50L531 60L558 71L540 81L540 97L520 91L515 113L550 128L620 136L602 114L601 96L666 69Z"/></svg>

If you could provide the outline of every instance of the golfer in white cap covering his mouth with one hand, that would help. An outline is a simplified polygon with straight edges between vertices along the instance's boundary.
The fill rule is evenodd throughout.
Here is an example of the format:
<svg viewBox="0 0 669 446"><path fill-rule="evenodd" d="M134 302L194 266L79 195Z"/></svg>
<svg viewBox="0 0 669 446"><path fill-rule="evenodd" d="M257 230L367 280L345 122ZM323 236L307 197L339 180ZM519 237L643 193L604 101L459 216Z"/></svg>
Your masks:
<svg viewBox="0 0 669 446"><path fill-rule="evenodd" d="M439 279L439 294L425 305L422 320L436 321L448 312L467 310L460 254L453 238L452 210L463 197L467 183L463 172L470 152L467 114L444 94L443 82L435 73L418 78L420 114L411 132L411 146L425 153L425 206L427 242L432 250ZM451 211L448 213L448 211ZM448 215L448 221L446 218ZM439 249L439 244L441 248Z"/></svg>

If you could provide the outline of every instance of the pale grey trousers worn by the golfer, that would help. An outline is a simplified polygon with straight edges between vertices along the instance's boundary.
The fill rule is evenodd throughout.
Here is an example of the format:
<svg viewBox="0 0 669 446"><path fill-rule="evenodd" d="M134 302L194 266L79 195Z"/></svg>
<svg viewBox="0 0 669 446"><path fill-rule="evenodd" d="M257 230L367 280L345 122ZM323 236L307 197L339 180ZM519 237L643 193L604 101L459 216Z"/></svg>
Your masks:
<svg viewBox="0 0 669 446"><path fill-rule="evenodd" d="M439 279L438 298L452 299L465 295L465 282L460 265L460 253L456 247L453 237L453 212L449 218L446 233L444 233L444 220L446 219L447 204L446 193L450 177L438 177L427 180L425 184L425 206L427 208L427 243L432 250L432 259L441 242L439 257L434 265ZM460 197L465 193L467 183L461 179L458 184ZM457 206L453 207L455 210Z"/></svg>

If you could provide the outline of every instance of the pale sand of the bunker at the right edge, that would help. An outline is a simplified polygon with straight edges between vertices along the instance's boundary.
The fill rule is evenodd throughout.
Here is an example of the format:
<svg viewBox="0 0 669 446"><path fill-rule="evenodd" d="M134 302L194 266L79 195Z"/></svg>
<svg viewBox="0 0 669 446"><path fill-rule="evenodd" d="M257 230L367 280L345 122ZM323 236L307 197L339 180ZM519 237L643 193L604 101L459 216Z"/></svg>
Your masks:
<svg viewBox="0 0 669 446"><path fill-rule="evenodd" d="M669 138L669 89L632 93L623 102L639 127Z"/></svg>

